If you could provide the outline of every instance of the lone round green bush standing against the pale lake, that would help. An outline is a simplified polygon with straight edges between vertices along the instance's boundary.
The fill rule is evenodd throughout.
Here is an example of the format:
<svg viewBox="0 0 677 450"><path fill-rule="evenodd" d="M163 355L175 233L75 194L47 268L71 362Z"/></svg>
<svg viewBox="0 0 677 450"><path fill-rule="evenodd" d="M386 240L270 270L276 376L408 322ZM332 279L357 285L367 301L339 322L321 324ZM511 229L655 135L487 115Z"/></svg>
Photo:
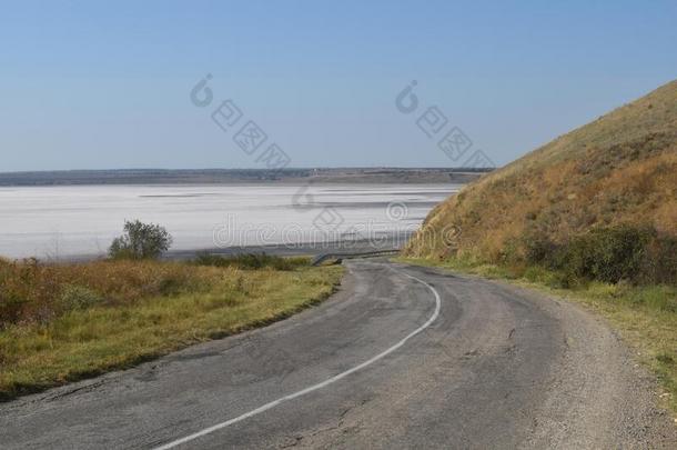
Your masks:
<svg viewBox="0 0 677 450"><path fill-rule="evenodd" d="M169 250L172 236L159 224L139 220L124 222L124 233L109 249L112 259L158 259Z"/></svg>

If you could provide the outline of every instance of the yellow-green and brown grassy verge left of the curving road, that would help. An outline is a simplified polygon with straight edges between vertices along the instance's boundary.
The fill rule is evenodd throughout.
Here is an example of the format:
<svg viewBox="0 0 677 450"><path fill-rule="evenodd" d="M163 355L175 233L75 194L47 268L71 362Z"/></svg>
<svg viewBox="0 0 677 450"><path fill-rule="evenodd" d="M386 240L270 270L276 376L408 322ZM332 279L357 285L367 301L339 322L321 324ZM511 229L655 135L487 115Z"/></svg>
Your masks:
<svg viewBox="0 0 677 450"><path fill-rule="evenodd" d="M73 281L79 286L98 290L77 289L70 293L75 299L90 299L92 292L108 292L108 297L36 316L32 306L58 300L37 297L30 314L6 323L0 329L0 399L270 323L326 298L342 274L341 267L242 270L151 261L27 270L46 272L24 279L32 282L29 292L42 292L54 279L78 274ZM176 284L164 290L158 280ZM12 281L20 283L20 279ZM123 287L115 288L119 283Z"/></svg>

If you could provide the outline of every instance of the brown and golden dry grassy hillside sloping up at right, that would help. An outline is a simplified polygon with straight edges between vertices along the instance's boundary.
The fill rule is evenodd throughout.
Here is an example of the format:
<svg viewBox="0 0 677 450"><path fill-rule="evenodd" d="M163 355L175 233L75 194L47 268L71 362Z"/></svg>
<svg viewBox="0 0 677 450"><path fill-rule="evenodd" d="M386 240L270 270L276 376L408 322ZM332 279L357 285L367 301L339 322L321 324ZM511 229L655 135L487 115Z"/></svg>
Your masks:
<svg viewBox="0 0 677 450"><path fill-rule="evenodd" d="M468 184L433 210L406 253L501 262L524 256L529 236L562 243L618 223L677 236L676 199L673 81Z"/></svg>

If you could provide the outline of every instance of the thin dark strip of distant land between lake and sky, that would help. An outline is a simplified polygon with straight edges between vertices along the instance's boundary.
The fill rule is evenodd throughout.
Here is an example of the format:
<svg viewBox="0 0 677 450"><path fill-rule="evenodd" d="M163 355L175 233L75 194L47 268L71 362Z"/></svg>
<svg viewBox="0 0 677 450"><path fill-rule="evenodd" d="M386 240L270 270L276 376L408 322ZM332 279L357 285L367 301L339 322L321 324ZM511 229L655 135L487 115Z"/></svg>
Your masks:
<svg viewBox="0 0 677 450"><path fill-rule="evenodd" d="M63 170L43 172L1 172L0 187L246 183L467 183L489 171L489 169L463 168Z"/></svg>

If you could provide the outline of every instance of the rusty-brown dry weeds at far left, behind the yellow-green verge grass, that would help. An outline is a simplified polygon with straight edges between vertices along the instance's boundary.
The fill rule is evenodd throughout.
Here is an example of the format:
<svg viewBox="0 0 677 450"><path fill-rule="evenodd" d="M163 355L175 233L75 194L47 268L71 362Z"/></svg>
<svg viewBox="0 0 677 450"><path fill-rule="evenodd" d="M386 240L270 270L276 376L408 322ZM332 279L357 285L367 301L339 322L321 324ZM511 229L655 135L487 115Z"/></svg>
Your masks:
<svg viewBox="0 0 677 450"><path fill-rule="evenodd" d="M213 280L209 268L179 262L0 260L0 329L12 323L46 323L72 308L93 303L121 306L152 296L208 290Z"/></svg>

